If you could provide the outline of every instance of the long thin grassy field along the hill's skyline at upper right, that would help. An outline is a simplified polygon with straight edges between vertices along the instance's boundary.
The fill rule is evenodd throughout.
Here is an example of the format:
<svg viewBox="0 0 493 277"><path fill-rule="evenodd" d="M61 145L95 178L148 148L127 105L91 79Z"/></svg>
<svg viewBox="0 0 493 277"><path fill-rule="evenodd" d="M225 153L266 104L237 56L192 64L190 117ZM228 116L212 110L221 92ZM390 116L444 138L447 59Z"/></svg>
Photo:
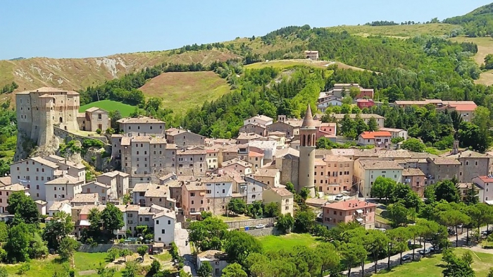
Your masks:
<svg viewBox="0 0 493 277"><path fill-rule="evenodd" d="M449 34L456 29L456 25L436 23L436 24L415 24L415 25L392 25L392 26L335 26L328 27L337 32L347 31L354 35L368 37L369 35L385 35L389 37L416 37L418 35L441 36Z"/></svg>

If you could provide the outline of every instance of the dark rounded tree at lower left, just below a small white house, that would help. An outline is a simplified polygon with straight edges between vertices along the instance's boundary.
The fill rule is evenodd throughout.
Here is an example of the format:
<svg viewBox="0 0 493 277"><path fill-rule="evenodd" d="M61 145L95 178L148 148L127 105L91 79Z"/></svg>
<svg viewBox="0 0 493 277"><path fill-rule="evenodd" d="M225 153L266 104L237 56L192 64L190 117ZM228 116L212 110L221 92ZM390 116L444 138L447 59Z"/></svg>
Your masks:
<svg viewBox="0 0 493 277"><path fill-rule="evenodd" d="M43 239L48 242L49 248L58 251L61 240L72 233L73 229L72 216L65 213L65 211L58 211L51 221L46 223L46 227L43 230Z"/></svg>

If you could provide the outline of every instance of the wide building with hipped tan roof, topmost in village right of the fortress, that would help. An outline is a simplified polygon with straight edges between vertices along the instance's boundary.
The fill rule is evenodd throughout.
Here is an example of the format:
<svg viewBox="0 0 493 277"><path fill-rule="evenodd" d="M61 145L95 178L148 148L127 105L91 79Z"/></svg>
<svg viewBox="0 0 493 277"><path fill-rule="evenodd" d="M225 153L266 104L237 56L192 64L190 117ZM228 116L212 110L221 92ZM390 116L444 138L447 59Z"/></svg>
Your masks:
<svg viewBox="0 0 493 277"><path fill-rule="evenodd" d="M156 118L139 116L137 118L122 118L116 121L120 124L120 132L126 136L165 135L166 123Z"/></svg>

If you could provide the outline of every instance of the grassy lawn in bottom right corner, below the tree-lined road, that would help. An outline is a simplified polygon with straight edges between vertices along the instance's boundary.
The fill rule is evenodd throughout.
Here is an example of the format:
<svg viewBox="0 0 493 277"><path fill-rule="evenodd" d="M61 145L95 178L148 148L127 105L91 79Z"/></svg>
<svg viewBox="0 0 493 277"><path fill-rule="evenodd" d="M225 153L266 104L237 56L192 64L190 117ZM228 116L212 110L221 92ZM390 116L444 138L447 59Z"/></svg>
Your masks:
<svg viewBox="0 0 493 277"><path fill-rule="evenodd" d="M460 248L455 252L458 256L468 250ZM473 269L476 277L485 277L489 268L493 266L493 254L482 252L473 252ZM429 258L423 258L420 261L407 263L402 266L394 267L390 272L379 273L382 277L442 277L444 261L442 254L436 254Z"/></svg>

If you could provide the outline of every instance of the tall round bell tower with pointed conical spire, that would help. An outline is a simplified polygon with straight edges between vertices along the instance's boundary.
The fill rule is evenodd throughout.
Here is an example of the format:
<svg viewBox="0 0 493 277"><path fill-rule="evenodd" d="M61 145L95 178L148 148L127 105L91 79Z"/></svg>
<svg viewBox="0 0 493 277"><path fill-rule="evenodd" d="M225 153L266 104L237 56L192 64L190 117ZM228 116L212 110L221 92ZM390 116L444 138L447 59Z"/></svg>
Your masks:
<svg viewBox="0 0 493 277"><path fill-rule="evenodd" d="M298 169L298 191L304 187L310 190L310 197L315 197L315 147L317 129L313 123L311 107L308 104L303 124L299 128L299 169Z"/></svg>

